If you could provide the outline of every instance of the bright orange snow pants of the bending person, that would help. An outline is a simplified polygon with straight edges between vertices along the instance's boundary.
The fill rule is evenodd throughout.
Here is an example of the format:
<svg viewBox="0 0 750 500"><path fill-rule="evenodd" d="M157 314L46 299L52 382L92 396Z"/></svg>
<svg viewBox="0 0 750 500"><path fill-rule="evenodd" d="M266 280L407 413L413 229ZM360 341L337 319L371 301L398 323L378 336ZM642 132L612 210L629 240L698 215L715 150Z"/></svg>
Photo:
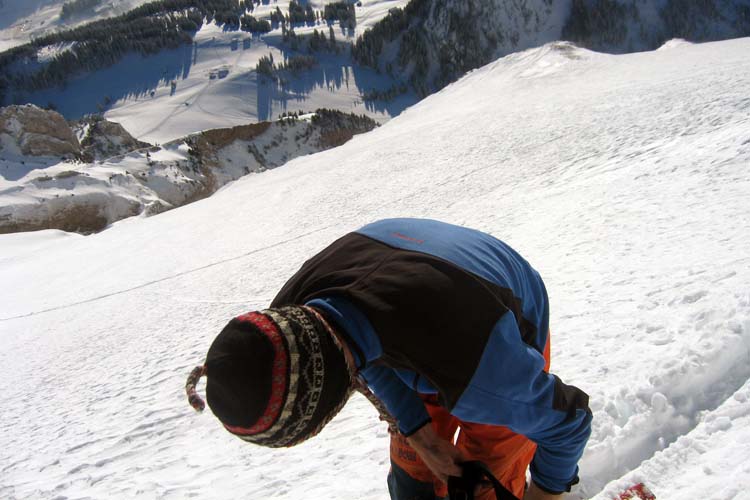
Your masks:
<svg viewBox="0 0 750 500"><path fill-rule="evenodd" d="M544 367L549 371L550 340L544 347ZM523 498L526 488L526 469L534 458L536 444L526 437L499 425L475 424L457 419L437 403L434 395L423 395L427 412L432 417L432 426L438 436L454 443L469 460L480 460L487 464L492 474L517 498ZM456 431L458 438L454 441ZM391 462L418 483L432 483L436 498L447 498L448 487L439 481L427 468L417 452L409 446L401 434L391 434ZM391 471L394 476L394 471ZM393 477L389 477L389 482ZM404 488L410 490L410 487ZM391 491L393 496L394 492ZM397 495L393 500L401 500ZM411 497L411 495L409 495ZM486 489L476 500L493 500L495 493Z"/></svg>

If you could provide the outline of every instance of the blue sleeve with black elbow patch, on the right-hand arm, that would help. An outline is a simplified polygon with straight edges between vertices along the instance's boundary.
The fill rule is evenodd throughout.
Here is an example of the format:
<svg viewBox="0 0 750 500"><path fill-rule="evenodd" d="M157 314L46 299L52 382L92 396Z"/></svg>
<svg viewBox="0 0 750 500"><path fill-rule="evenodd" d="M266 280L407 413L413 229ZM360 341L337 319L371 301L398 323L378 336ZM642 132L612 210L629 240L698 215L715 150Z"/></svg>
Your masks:
<svg viewBox="0 0 750 500"><path fill-rule="evenodd" d="M544 371L542 354L521 340L515 318L495 325L479 366L452 413L504 425L537 444L531 477L550 492L569 491L591 434L588 396Z"/></svg>

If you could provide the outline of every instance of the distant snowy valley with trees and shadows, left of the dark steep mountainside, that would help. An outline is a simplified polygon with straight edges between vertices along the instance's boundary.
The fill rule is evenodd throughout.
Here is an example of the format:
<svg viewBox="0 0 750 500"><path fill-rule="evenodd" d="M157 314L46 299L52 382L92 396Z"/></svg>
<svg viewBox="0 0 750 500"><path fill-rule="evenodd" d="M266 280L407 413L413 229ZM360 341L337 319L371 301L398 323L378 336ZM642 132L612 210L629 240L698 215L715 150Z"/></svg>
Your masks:
<svg viewBox="0 0 750 500"><path fill-rule="evenodd" d="M383 121L416 102L416 96L406 92L387 101L368 99L374 90L392 88L396 79L354 64L349 42L385 16L388 8L406 2L363 1L354 7L354 28L348 22L316 18L269 23L268 33L241 29L212 9L173 9L153 2L119 21L49 34L35 39L35 44L0 53L0 105L3 100L33 103L56 109L68 119L103 113L134 137L151 143L210 128L275 120L301 109L338 109ZM208 2L181 0L169 5L176 3ZM237 2L210 3L239 12ZM323 16L329 3L316 0L305 5ZM245 15L256 21L270 20L277 9L289 14L288 0L247 4L253 7ZM204 17L209 12L214 17ZM294 28L293 39L289 26ZM313 50L310 41L316 34L318 45L313 44ZM325 43L320 44L319 37ZM276 79L258 74L258 63L269 55L277 66L292 67L281 70ZM301 56L309 64L293 67Z"/></svg>

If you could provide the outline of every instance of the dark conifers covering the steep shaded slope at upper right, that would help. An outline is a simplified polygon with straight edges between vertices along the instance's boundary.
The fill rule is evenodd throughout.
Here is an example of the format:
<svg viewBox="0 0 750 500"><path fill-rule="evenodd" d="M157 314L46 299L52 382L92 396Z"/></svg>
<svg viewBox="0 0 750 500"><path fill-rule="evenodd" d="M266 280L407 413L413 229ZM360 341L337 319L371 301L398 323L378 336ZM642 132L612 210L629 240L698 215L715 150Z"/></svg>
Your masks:
<svg viewBox="0 0 750 500"><path fill-rule="evenodd" d="M393 8L357 39L352 57L364 66L405 75L417 94L426 95L487 64L499 48L511 51L518 45L517 32L481 26L482 16L492 14L487 11L492 2L465 4L468 14L454 8L454 0L411 0L404 8ZM526 23L537 14L524 2L518 6ZM634 40L654 49L670 38L706 41L750 35L746 0L664 0L657 8L659 25L649 30L641 10L637 2L572 0L561 39L595 50L626 52L634 50ZM436 38L426 27L428 17L436 13L450 39ZM633 26L640 26L640 31L629 32ZM384 48L393 45L398 47L395 57L387 56Z"/></svg>

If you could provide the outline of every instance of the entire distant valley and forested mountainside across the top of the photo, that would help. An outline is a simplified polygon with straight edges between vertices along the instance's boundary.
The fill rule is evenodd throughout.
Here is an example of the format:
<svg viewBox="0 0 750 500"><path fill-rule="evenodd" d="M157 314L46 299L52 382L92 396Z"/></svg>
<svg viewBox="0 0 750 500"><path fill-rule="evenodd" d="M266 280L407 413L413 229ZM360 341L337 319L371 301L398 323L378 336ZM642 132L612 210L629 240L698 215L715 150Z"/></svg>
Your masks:
<svg viewBox="0 0 750 500"><path fill-rule="evenodd" d="M96 3L82 8L86 20L140 7L72 32L42 29L73 2ZM467 71L554 40L622 53L750 35L750 0L366 0L350 3L347 19L326 14L330 0L142 3L32 2L42 31L0 53L0 104L103 113L162 143L298 109L382 122ZM20 5L5 9L30 15ZM295 69L264 78L269 56Z"/></svg>

